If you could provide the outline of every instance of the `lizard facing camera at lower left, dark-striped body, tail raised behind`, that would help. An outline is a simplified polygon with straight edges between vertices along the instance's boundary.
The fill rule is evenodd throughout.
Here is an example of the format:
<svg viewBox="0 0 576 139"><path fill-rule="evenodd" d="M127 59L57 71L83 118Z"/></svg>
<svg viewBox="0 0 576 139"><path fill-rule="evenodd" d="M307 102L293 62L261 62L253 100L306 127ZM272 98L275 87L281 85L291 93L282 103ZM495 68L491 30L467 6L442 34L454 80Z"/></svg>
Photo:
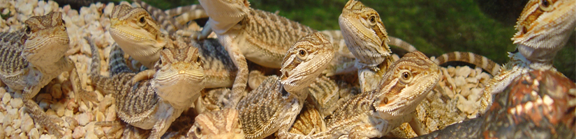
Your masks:
<svg viewBox="0 0 576 139"><path fill-rule="evenodd" d="M118 117L140 129L152 129L149 138L160 138L204 89L204 70L198 49L182 43L175 46L161 51L154 78L147 79L145 72L145 75L131 72L112 77L100 75L98 49L91 44L91 78L96 88L114 93Z"/></svg>

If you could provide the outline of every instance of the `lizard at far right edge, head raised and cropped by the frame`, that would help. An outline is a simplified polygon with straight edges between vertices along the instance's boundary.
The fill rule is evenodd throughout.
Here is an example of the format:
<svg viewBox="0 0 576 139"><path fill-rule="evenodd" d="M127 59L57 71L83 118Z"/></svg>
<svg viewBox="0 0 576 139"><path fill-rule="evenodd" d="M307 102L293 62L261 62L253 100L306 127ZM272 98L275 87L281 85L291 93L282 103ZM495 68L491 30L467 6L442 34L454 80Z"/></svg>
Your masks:
<svg viewBox="0 0 576 139"><path fill-rule="evenodd" d="M482 91L482 112L492 104L492 95L502 92L517 76L532 70L556 70L552 58L576 27L575 13L575 0L532 0L526 4L518 18L518 32L512 38L517 51L508 53L510 61Z"/></svg>

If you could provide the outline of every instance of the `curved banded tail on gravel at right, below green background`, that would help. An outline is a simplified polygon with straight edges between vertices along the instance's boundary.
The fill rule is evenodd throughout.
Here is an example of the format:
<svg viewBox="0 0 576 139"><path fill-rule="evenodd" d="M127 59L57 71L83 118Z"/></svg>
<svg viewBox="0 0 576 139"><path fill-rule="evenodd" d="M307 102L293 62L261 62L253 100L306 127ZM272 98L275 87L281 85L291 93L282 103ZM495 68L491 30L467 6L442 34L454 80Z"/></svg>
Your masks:
<svg viewBox="0 0 576 139"><path fill-rule="evenodd" d="M486 58L485 56L479 54L473 54L471 52L453 51L447 54L442 54L438 56L434 62L438 65L450 61L461 61L465 63L471 63L476 66L480 66L482 69L489 72L489 74L496 75L500 70L500 65L494 61Z"/></svg>

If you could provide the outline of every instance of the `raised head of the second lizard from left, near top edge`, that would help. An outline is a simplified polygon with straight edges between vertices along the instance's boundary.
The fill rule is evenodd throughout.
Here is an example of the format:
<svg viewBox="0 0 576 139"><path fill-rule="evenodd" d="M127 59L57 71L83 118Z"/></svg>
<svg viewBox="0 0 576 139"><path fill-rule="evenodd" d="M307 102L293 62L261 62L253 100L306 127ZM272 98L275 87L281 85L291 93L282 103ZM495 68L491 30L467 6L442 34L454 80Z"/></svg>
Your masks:
<svg viewBox="0 0 576 139"><path fill-rule="evenodd" d="M110 35L126 54L148 68L160 58L169 39L144 8L120 4L110 14Z"/></svg>

